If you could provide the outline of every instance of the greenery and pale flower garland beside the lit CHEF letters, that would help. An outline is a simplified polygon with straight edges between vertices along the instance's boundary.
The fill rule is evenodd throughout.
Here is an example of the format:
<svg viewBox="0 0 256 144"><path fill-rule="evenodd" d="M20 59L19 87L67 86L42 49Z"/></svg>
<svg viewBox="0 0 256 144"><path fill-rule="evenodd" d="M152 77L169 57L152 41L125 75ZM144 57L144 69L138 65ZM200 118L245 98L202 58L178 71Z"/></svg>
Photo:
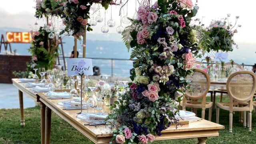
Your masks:
<svg viewBox="0 0 256 144"><path fill-rule="evenodd" d="M32 54L31 68L52 69L58 56L58 38L50 26L40 27L38 31L30 31L32 41L29 52ZM48 46L49 40L49 46ZM50 51L48 51L50 48Z"/></svg>

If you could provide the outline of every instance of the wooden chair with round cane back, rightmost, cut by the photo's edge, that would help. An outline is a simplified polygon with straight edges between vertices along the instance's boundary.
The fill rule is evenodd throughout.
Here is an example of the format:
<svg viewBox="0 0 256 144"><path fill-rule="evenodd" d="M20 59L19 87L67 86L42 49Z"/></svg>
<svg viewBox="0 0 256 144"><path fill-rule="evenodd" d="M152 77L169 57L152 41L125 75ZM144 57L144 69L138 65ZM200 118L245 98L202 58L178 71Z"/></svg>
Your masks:
<svg viewBox="0 0 256 144"><path fill-rule="evenodd" d="M239 71L231 74L226 87L230 102L216 103L216 123L219 123L220 108L229 111L229 132L232 132L233 112L244 114L244 126L246 126L246 112L248 112L248 128L252 131L252 99L256 90L255 74L250 71Z"/></svg>

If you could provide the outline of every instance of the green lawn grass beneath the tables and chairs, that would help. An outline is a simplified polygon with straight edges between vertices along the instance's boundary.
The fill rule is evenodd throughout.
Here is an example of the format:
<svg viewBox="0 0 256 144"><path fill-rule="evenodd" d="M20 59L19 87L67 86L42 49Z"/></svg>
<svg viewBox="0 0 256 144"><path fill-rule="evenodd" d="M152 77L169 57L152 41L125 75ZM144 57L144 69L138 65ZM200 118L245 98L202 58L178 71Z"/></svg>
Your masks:
<svg viewBox="0 0 256 144"><path fill-rule="evenodd" d="M210 98L207 97L209 101ZM218 97L216 101L219 102ZM224 101L228 101L228 96L224 96ZM40 107L26 108L24 128L20 127L19 109L0 109L0 144L40 144ZM198 109L198 116L201 110ZM229 112L220 110L220 124L225 126L220 130L220 136L210 137L207 144L255 144L256 143L256 116L252 113L252 132L244 128L239 121L239 112L233 115L233 133L228 132ZM206 110L206 120L208 110ZM216 122L216 111L212 112L212 122ZM196 144L196 138L182 140L156 141L153 144ZM70 126L66 121L52 112L52 144L93 144L88 138Z"/></svg>

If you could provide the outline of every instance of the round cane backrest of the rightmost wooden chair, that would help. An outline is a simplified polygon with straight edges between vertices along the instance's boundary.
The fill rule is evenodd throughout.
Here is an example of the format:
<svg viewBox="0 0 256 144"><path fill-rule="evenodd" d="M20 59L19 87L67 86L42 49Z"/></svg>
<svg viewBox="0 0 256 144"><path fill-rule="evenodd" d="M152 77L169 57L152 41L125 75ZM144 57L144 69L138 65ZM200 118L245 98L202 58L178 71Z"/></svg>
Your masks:
<svg viewBox="0 0 256 144"><path fill-rule="evenodd" d="M250 71L239 71L228 77L226 84L230 101L248 102L256 90L255 74Z"/></svg>

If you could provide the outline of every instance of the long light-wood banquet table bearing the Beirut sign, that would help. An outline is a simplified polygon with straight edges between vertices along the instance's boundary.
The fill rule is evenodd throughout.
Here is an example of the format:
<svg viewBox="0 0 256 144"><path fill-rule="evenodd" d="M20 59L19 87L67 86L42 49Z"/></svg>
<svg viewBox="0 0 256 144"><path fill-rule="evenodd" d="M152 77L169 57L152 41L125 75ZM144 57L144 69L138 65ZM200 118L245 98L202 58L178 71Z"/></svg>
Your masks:
<svg viewBox="0 0 256 144"><path fill-rule="evenodd" d="M108 144L110 142L112 134L108 125L84 125L84 123L86 123L85 121L76 118L76 113L80 112L80 110L63 110L63 107L57 104L58 102L69 99L49 99L49 97L44 96L44 93L42 92L37 94L32 92L30 88L26 88L24 84L19 83L17 79L13 79L12 81L19 91L28 94L30 97L37 98L37 101L40 101L41 103L41 144L50 144L52 111L95 144ZM23 111L23 106L21 111ZM109 107L104 107L103 111L110 112ZM86 110L83 110L83 112L86 112ZM21 113L23 114L23 112ZM162 131L162 136L156 136L155 140L198 138L199 144L205 144L207 137L219 136L220 129L224 129L224 126L208 120L200 120L198 122L179 126L177 129L175 126L170 126L168 129Z"/></svg>

